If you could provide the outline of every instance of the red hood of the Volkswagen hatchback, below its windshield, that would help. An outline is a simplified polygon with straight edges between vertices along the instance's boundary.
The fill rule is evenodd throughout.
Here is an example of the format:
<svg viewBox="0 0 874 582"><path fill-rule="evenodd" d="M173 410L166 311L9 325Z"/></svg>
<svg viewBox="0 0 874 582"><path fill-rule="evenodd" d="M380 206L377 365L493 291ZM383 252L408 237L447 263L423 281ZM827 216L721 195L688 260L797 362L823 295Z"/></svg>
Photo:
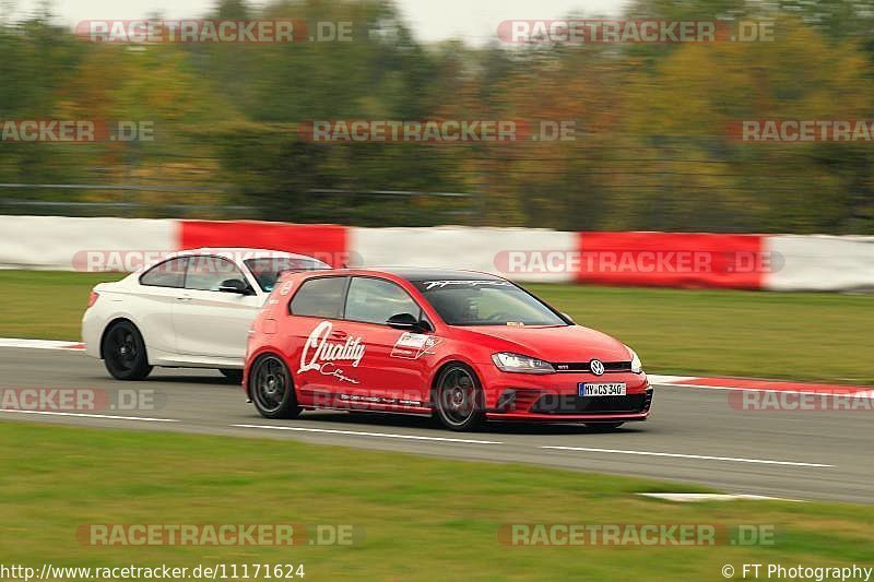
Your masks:
<svg viewBox="0 0 874 582"><path fill-rule="evenodd" d="M492 347L495 352L513 352L552 363L589 361L592 358L601 361L631 359L622 342L581 325L488 325L462 329L479 336L477 343Z"/></svg>

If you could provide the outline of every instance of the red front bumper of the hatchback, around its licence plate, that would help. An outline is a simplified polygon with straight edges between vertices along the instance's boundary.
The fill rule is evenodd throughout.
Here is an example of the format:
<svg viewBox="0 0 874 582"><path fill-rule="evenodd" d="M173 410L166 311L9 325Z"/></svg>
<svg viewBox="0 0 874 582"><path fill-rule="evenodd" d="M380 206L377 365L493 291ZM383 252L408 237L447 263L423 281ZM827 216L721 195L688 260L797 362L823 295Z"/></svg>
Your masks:
<svg viewBox="0 0 874 582"><path fill-rule="evenodd" d="M628 423L646 420L653 389L645 373L551 373L543 376L487 371L483 382L489 420L545 423ZM624 382L623 396L579 396L581 382Z"/></svg>

